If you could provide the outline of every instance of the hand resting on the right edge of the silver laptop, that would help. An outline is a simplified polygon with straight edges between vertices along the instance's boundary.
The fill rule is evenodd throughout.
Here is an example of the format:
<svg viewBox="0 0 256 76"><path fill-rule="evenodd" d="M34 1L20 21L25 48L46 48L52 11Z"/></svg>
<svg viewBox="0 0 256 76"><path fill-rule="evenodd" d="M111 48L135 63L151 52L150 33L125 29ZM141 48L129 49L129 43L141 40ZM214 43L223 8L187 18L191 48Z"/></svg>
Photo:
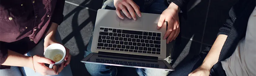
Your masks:
<svg viewBox="0 0 256 76"><path fill-rule="evenodd" d="M163 25L166 26L165 21L168 23L167 31L164 34L164 40L166 40L166 43L168 44L172 40L175 40L178 34L180 33L180 22L179 22L179 8L176 4L171 3L167 9L164 10L164 12L160 15L157 29L160 29Z"/></svg>

